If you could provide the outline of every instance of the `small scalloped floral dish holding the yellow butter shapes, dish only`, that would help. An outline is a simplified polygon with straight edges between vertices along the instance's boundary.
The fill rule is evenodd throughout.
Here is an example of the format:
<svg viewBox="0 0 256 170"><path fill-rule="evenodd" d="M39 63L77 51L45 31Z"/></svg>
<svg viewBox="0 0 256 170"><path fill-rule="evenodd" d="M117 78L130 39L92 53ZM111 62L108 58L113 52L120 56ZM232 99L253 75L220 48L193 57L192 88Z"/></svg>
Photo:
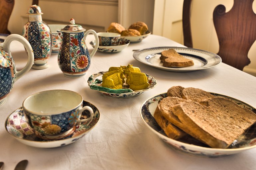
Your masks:
<svg viewBox="0 0 256 170"><path fill-rule="evenodd" d="M107 97L110 97L110 98L128 99L128 98L136 97L141 95L145 91L148 91L154 88L157 85L156 79L154 79L153 76L146 74L148 83L149 83L149 87L147 87L146 89L133 91L132 89L129 89L125 86L123 86L123 89L109 89L101 86L102 75L106 72L107 71L101 71L91 75L87 80L87 83L92 90L99 91L103 95L106 95Z"/></svg>

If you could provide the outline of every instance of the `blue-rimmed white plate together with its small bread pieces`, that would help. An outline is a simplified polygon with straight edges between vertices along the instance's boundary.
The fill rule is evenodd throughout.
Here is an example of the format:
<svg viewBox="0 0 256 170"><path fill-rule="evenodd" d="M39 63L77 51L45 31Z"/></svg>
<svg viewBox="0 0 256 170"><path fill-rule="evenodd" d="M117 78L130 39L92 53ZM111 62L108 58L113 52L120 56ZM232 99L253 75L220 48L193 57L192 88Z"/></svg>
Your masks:
<svg viewBox="0 0 256 170"><path fill-rule="evenodd" d="M188 72L212 68L221 63L214 53L184 47L154 47L133 53L137 61L152 67L174 72Z"/></svg>

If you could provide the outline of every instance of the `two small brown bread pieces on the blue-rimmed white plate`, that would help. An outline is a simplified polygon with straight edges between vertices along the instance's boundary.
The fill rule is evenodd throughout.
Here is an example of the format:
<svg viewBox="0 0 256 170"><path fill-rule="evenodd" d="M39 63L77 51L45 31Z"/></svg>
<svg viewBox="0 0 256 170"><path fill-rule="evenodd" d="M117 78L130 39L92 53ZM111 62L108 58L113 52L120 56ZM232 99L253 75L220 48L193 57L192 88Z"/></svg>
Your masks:
<svg viewBox="0 0 256 170"><path fill-rule="evenodd" d="M194 62L177 53L174 49L161 52L160 60L164 67L188 67L194 65Z"/></svg>

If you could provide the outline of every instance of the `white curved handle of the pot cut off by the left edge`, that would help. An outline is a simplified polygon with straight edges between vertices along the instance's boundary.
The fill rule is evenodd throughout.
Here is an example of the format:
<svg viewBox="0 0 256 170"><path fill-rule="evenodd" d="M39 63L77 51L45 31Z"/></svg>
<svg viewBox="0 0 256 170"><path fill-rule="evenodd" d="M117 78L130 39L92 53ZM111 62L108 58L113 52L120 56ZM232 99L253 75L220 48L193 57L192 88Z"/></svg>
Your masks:
<svg viewBox="0 0 256 170"><path fill-rule="evenodd" d="M28 54L28 62L26 64L26 66L23 69L21 69L20 71L16 72L16 78L14 80L14 82L16 82L25 73L27 73L30 70L30 68L32 67L32 65L34 63L34 53L33 53L33 49L31 47L31 45L29 44L29 42L26 38L24 38L23 36L18 35L18 34L11 34L6 37L4 44L2 45L3 50L7 51L7 53L10 56L12 56L11 51L10 51L10 44L14 40L21 42L23 44L23 46L25 47L25 49L27 50L27 54Z"/></svg>

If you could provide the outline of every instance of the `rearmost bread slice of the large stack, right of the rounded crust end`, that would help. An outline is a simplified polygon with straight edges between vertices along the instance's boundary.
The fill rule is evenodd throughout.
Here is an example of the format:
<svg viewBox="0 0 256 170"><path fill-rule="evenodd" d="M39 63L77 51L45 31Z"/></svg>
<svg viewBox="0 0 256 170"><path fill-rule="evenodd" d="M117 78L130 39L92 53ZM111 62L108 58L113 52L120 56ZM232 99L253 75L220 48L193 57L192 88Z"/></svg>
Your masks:
<svg viewBox="0 0 256 170"><path fill-rule="evenodd" d="M204 90L188 87L183 89L182 98L199 103L202 100L215 98L215 96L211 95L209 92L206 92Z"/></svg>

